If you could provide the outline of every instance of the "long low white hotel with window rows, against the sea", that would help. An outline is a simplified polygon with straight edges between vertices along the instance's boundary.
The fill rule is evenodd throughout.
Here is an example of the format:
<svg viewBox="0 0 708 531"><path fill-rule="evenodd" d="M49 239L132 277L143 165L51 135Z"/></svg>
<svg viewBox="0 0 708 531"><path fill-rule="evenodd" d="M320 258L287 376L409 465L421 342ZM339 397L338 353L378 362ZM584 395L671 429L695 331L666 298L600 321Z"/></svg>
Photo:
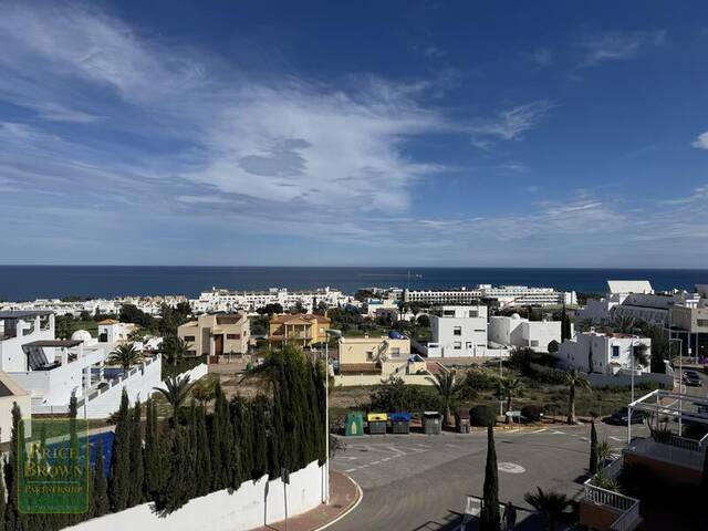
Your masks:
<svg viewBox="0 0 708 531"><path fill-rule="evenodd" d="M447 290L405 290L404 302L420 304L477 304L482 299L499 301L502 306L550 306L577 304L574 291L555 291L553 288L532 288L528 285L478 284L473 289L466 287Z"/></svg>

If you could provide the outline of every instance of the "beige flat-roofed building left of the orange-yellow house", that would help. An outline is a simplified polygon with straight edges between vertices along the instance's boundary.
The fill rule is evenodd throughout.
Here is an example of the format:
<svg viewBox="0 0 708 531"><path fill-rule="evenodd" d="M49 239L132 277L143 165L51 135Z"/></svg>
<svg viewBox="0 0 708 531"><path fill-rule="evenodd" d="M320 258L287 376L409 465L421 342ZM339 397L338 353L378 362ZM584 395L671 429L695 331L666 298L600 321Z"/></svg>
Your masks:
<svg viewBox="0 0 708 531"><path fill-rule="evenodd" d="M251 337L251 325L242 313L199 315L177 329L177 336L190 345L192 356L222 356L246 354Z"/></svg>

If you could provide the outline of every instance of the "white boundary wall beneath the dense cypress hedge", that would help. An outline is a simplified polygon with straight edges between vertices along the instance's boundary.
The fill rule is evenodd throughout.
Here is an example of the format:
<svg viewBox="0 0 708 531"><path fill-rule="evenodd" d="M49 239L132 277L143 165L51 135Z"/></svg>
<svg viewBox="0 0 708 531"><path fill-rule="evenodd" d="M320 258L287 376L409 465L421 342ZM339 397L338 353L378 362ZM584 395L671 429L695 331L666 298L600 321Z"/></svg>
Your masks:
<svg viewBox="0 0 708 531"><path fill-rule="evenodd" d="M324 469L313 461L290 475L288 517L314 509L322 502ZM74 525L75 531L107 529L149 529L150 531L246 531L285 519L283 483L278 479L246 481L229 493L219 490L190 500L177 511L160 518L153 512L153 503L143 503L125 511L94 518Z"/></svg>

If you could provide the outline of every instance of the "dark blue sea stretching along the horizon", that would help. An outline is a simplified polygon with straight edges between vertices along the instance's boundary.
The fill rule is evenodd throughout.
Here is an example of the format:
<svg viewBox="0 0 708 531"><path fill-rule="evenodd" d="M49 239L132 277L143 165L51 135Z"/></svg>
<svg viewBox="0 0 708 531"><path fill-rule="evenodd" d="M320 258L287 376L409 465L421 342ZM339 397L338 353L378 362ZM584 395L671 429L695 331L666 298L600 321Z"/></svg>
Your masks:
<svg viewBox="0 0 708 531"><path fill-rule="evenodd" d="M506 284L605 293L607 280L649 280L655 290L693 290L697 283L708 283L708 269L0 266L0 301L119 295L196 298L212 287L229 290L330 287L354 293L369 287Z"/></svg>

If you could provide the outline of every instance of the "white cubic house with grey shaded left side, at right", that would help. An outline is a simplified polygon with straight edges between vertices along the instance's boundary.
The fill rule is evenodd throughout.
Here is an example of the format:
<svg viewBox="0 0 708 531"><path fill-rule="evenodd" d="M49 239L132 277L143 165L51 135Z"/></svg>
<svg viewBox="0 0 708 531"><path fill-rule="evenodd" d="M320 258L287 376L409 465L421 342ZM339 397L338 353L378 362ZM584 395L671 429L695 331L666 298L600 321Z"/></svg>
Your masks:
<svg viewBox="0 0 708 531"><path fill-rule="evenodd" d="M633 355L639 350L644 350L646 366L639 365ZM648 373L652 340L629 334L583 332L575 334L572 340L564 341L555 356L565 368L576 368L585 373L631 373L633 366L636 374Z"/></svg>

